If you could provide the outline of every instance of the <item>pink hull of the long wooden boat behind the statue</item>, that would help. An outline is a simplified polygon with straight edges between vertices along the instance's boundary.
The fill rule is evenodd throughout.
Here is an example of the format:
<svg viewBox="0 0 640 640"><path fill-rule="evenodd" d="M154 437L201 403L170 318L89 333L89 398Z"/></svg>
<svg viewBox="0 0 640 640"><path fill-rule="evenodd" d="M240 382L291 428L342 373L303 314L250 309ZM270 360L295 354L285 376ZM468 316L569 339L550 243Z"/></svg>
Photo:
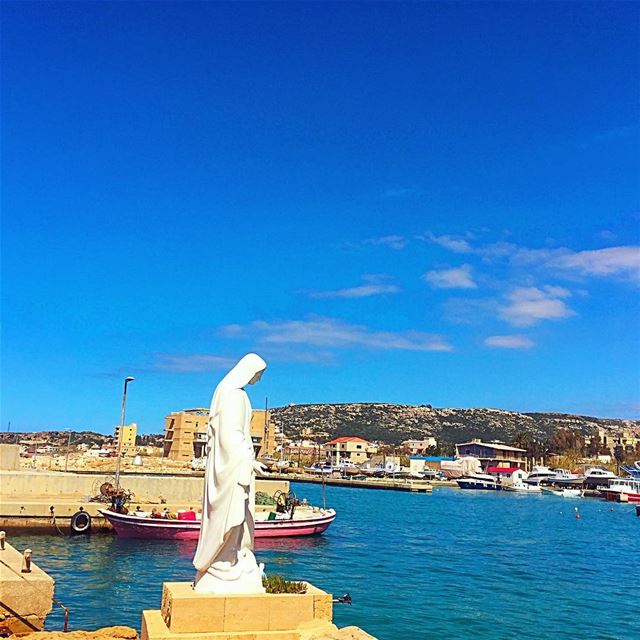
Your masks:
<svg viewBox="0 0 640 640"><path fill-rule="evenodd" d="M139 518L100 509L100 513L111 523L121 538L146 538L155 540L197 540L200 537L200 522L189 520L166 520L164 518ZM317 518L300 520L268 520L256 522L256 538L288 538L313 536L326 531L335 520L336 513L327 510Z"/></svg>

